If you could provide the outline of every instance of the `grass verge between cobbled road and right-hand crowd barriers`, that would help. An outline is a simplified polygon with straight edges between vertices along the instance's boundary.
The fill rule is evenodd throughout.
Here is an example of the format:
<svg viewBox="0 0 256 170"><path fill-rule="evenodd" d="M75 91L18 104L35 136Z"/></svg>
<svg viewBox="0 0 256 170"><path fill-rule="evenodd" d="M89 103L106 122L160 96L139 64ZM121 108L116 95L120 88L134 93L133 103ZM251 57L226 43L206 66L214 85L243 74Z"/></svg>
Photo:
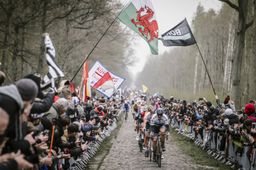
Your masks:
<svg viewBox="0 0 256 170"><path fill-rule="evenodd" d="M172 142L175 142L179 148L183 151L184 154L193 157L195 164L198 165L206 165L210 166L212 168L200 168L202 169L236 169L231 168L230 165L225 165L224 163L219 162L217 159L214 159L212 157L211 159L205 158L209 157L209 155L206 153L205 150L202 150L202 148L199 145L194 144L194 140L189 139L186 136L183 136L181 134L178 134L177 131L175 131L175 128L170 128L170 139ZM216 168L214 168L216 167Z"/></svg>

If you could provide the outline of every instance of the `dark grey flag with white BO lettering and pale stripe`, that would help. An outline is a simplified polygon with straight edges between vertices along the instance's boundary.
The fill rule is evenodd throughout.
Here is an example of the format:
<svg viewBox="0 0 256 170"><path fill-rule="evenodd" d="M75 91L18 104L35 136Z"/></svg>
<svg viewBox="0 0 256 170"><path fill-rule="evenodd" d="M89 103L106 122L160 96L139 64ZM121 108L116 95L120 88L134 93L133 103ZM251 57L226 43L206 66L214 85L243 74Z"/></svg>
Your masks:
<svg viewBox="0 0 256 170"><path fill-rule="evenodd" d="M196 43L186 19L164 33L159 39L165 46L189 46Z"/></svg>

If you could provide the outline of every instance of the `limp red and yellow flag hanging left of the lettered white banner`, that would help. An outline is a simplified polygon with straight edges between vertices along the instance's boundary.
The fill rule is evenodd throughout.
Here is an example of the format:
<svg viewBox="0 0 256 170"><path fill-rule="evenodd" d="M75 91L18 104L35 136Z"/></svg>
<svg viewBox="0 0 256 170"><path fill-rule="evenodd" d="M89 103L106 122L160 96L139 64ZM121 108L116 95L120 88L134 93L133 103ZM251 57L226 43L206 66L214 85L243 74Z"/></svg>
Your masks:
<svg viewBox="0 0 256 170"><path fill-rule="evenodd" d="M91 96L92 96L91 95L91 88L89 86L90 80L89 80L89 74L88 74L87 60L83 64L82 82L83 82L82 100L83 100L83 102L86 102L87 98L91 98Z"/></svg>

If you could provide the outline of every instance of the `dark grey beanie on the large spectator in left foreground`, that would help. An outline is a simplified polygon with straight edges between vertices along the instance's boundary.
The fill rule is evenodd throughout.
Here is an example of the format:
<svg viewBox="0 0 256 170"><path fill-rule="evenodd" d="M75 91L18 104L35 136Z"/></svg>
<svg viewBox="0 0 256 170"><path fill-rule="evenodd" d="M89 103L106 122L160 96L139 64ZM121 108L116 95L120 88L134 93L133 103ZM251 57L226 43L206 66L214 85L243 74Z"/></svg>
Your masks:
<svg viewBox="0 0 256 170"><path fill-rule="evenodd" d="M34 100L38 93L36 83L31 79L21 79L15 83L23 101Z"/></svg>

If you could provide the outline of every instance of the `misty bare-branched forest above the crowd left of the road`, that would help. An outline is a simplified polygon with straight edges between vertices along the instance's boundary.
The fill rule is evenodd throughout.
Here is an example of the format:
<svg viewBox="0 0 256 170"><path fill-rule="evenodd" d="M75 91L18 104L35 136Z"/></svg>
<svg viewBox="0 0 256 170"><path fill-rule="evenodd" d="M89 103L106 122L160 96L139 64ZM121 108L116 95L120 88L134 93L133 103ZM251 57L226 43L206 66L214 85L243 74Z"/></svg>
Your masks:
<svg viewBox="0 0 256 170"><path fill-rule="evenodd" d="M0 60L12 82L26 74L48 72L45 37L49 33L56 50L55 61L65 78L72 79L105 30L123 8L116 0L3 0L0 1ZM127 67L137 60L132 50L133 36L120 21L102 38L88 59L89 69L99 60L114 74L131 82ZM128 41L127 41L128 40ZM1 70L2 67L1 67ZM80 69L74 79L82 79ZM10 83L7 78L6 83Z"/></svg>

